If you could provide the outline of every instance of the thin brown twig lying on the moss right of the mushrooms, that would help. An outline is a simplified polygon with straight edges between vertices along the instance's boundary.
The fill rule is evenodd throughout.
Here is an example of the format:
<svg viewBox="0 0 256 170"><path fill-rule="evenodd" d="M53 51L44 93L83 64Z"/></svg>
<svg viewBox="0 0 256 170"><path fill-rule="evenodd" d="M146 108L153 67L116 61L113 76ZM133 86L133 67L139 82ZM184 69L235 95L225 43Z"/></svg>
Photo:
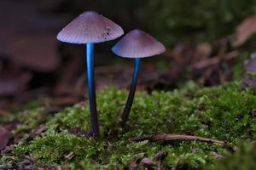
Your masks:
<svg viewBox="0 0 256 170"><path fill-rule="evenodd" d="M172 140L199 140L208 143L217 143L217 144L225 144L224 141L217 139L209 139L199 136L190 136L190 135L180 135L180 134L156 134L152 136L144 136L144 137L135 137L131 138L131 141L140 142L143 140L149 141L172 141Z"/></svg>

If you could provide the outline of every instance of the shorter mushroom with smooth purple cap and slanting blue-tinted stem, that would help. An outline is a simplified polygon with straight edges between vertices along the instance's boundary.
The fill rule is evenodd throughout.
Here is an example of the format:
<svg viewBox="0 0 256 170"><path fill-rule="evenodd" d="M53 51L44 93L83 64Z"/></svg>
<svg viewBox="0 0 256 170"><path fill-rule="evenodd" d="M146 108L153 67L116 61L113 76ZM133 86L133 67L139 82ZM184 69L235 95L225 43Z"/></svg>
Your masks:
<svg viewBox="0 0 256 170"><path fill-rule="evenodd" d="M122 127L125 127L125 123L127 122L129 113L131 111L131 105L137 86L137 77L140 70L141 58L161 54L165 50L166 48L163 44L141 30L130 31L125 35L125 37L123 37L113 46L112 51L114 54L124 58L135 59L130 93L126 101L125 109L121 116L120 125Z"/></svg>

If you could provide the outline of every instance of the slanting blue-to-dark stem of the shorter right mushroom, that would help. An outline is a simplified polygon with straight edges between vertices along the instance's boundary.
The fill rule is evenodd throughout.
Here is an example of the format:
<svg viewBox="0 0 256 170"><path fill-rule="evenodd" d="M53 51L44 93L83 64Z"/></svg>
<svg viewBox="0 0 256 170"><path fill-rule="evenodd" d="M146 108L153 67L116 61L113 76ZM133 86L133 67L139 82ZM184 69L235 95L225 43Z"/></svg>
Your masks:
<svg viewBox="0 0 256 170"><path fill-rule="evenodd" d="M138 73L139 73L139 70L140 70L140 64L141 64L141 59L136 58L135 59L134 70L133 70L133 75L132 75L130 93L129 93L128 99L126 101L125 109L124 109L123 114L121 116L121 122L120 122L121 127L125 127L125 123L127 122L130 111L131 111L131 105L133 103L134 94L135 94L136 86L137 86L137 77L138 77Z"/></svg>

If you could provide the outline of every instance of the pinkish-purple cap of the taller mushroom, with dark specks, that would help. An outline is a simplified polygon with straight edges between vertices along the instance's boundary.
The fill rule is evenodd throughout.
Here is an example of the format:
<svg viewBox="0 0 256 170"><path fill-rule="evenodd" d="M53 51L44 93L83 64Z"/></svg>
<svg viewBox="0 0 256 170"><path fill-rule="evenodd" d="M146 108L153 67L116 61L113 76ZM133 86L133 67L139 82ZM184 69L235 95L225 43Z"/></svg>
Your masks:
<svg viewBox="0 0 256 170"><path fill-rule="evenodd" d="M63 28L57 39L61 42L85 44L106 42L124 34L123 29L94 11L86 11Z"/></svg>

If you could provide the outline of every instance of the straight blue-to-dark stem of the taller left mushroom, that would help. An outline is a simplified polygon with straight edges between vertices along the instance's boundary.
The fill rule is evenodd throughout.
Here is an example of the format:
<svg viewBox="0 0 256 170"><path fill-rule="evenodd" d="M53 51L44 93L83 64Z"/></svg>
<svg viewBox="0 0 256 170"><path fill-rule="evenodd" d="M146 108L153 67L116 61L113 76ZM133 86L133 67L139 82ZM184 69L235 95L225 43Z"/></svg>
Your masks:
<svg viewBox="0 0 256 170"><path fill-rule="evenodd" d="M86 44L86 54L87 54L87 81L89 88L89 103L90 103L90 123L92 127L92 133L94 138L98 139L100 137L100 128L97 117L96 109L96 89L94 82L94 59L93 59L93 43Z"/></svg>

